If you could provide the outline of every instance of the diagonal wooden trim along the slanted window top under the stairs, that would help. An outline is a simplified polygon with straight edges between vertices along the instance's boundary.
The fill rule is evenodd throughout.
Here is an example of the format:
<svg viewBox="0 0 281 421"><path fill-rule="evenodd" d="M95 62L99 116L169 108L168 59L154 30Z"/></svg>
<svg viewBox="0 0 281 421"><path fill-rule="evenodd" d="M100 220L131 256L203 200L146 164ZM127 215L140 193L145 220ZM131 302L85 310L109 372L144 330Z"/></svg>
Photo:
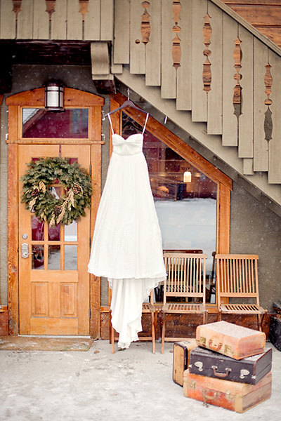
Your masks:
<svg viewBox="0 0 281 421"><path fill-rule="evenodd" d="M127 98L122 95L122 93L117 93L115 95L110 95L119 104L123 104ZM140 113L133 108L127 107L123 110L126 114L131 116L137 123L140 123L142 126L145 122L145 114ZM198 170L206 174L214 182L221 182L223 185L232 189L232 180L224 173L222 173L218 168L216 168L212 163L203 158L200 154L195 152L192 147L187 145L181 138L171 133L168 128L164 127L159 121L155 120L152 116L149 117L146 129L152 133L156 138L162 140L166 143L171 149L181 155L184 159L192 163Z"/></svg>

